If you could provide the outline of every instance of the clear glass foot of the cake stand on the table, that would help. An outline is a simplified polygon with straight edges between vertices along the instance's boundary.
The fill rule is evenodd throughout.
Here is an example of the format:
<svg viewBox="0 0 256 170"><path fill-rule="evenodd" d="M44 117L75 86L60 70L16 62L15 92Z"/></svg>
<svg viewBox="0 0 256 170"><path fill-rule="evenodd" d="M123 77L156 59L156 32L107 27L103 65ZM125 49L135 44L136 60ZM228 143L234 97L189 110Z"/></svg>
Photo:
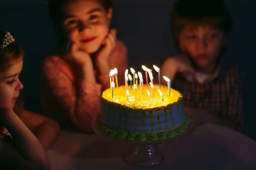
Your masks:
<svg viewBox="0 0 256 170"><path fill-rule="evenodd" d="M156 144L135 144L124 160L128 164L151 166L163 161L163 155Z"/></svg>

